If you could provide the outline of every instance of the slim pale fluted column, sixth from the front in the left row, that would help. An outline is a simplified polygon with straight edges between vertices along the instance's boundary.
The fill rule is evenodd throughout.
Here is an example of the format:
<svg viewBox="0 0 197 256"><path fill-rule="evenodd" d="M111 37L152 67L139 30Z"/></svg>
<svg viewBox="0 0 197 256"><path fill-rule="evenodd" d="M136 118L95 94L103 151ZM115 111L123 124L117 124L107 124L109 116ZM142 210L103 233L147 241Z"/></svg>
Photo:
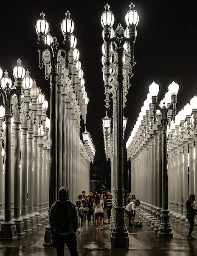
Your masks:
<svg viewBox="0 0 197 256"><path fill-rule="evenodd" d="M38 212L40 214L41 223L44 226L45 225L45 216L42 212L42 149L43 149L43 141L42 141L42 134L39 134L38 137L38 148L39 148L39 172L38 172Z"/></svg>

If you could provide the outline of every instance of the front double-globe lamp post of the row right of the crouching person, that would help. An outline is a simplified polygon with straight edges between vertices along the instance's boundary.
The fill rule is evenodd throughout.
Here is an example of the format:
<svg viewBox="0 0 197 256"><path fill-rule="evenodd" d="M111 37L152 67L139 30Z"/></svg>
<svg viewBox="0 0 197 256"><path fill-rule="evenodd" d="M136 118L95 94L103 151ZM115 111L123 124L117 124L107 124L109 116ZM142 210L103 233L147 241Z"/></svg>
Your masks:
<svg viewBox="0 0 197 256"><path fill-rule="evenodd" d="M179 86L176 83L172 83L169 85L169 91L171 93L171 101L172 103L166 108L163 105L161 108L157 102L157 96L152 96L152 107L154 114L154 122L156 119L156 110L160 110L161 112L161 126L162 126L162 209L161 209L161 224L159 227L159 236L169 236L172 237L172 227L169 224L169 210L168 210L168 173L167 173L167 125L169 122L168 113L172 110L172 119L175 120L176 113L176 102L177 102L177 93Z"/></svg>

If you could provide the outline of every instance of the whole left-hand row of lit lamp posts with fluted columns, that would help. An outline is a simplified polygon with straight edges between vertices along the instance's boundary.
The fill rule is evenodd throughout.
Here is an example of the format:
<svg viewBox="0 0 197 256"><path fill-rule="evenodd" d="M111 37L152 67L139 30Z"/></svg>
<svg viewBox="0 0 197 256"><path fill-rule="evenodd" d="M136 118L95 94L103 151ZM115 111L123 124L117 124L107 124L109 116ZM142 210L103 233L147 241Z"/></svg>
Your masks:
<svg viewBox="0 0 197 256"><path fill-rule="evenodd" d="M1 239L17 239L48 221L48 102L20 59L13 75L14 83L0 69L0 155L3 141L5 145L4 159L0 157Z"/></svg>

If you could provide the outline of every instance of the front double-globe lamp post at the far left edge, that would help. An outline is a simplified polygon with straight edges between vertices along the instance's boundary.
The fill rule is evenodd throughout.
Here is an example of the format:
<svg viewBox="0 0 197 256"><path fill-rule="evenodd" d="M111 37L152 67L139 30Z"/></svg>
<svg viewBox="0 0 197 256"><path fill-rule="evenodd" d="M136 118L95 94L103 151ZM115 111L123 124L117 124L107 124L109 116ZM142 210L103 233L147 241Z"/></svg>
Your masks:
<svg viewBox="0 0 197 256"><path fill-rule="evenodd" d="M17 61L17 66L13 69L14 78L17 80L16 87L12 87L11 79L8 77L8 72L0 69L1 88L0 93L5 101L5 119L6 119L6 144L5 144L5 221L1 224L0 238L1 239L17 239L16 224L11 217L11 98L14 93L17 95L18 108L21 105L21 87L25 76L25 69L21 65L20 59ZM15 142L16 143L16 142ZM17 143L20 143L19 140ZM19 162L18 162L19 165ZM17 168L19 171L19 169ZM15 173L16 174L16 173ZM19 172L15 175L17 185L20 187ZM16 182L16 181L15 181ZM15 183L16 184L16 183ZM19 193L17 199L19 198ZM17 200L16 208L19 208L19 200Z"/></svg>

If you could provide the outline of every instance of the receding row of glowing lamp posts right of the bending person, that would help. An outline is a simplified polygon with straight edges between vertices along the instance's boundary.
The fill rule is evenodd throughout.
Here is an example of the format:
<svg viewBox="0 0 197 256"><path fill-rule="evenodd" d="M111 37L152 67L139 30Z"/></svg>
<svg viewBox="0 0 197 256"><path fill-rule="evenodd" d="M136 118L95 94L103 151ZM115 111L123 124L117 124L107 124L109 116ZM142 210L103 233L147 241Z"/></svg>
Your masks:
<svg viewBox="0 0 197 256"><path fill-rule="evenodd" d="M132 191L138 194L143 209L139 215L159 236L173 236L168 209L167 127L171 120L175 121L179 86L173 81L168 89L159 105L158 84L153 82L149 86L147 99L126 143Z"/></svg>

